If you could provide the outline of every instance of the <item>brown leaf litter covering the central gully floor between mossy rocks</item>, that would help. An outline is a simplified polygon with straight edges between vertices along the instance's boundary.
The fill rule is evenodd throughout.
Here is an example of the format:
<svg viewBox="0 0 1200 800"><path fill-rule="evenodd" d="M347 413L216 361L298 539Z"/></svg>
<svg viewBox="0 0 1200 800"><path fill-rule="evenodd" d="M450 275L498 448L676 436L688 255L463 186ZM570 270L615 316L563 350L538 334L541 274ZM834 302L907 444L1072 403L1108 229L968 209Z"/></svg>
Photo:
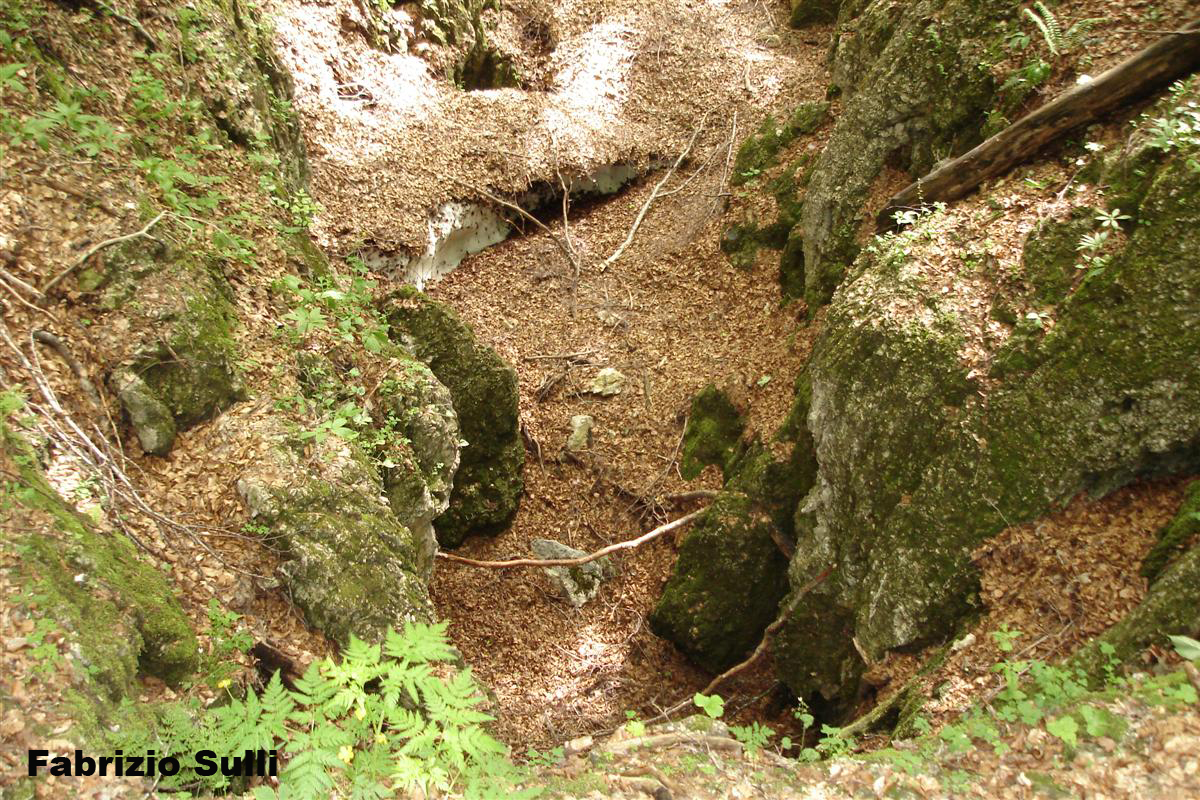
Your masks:
<svg viewBox="0 0 1200 800"><path fill-rule="evenodd" d="M312 53L318 37L338 31L322 14L353 12L288 7L277 23L283 53ZM458 551L472 558L526 555L535 537L593 551L686 511L661 498L719 480L713 468L698 482L679 477L691 397L708 383L752 396L745 403L751 428L772 433L791 403L811 331L802 308L781 306L772 259L738 270L718 242L726 209L751 203L728 191L737 144L768 110L786 114L822 98L828 32L792 31L782 6L751 2L569 2L544 12L562 37L548 92L462 92L426 77L395 106L380 97L370 109L353 109L355 120L371 121L352 126L330 120L349 113L323 89L330 67L299 55L289 64L310 152L317 154L314 196L329 219L317 231L335 249L364 240L419 246L430 209L476 199L470 187L511 196L530 176L554 181L557 170L674 162L694 140L686 163L611 265L604 261L625 240L662 170L614 198L566 209L566 230L560 217L551 218L553 234L534 230L469 258L431 289L520 378L526 493L509 530ZM613 50L613 41L625 49ZM344 34L337 44L338 62L358 68L346 77L358 83L388 85L379 71L424 68L414 55L383 56ZM586 112L576 108L584 102L581 85L604 88ZM342 235L344 225L354 234ZM575 264L552 235L575 252ZM625 375L619 395L586 392L604 367ZM595 420L593 441L568 458L570 419L578 414ZM673 560L670 539L624 555L619 575L578 609L538 570L439 564L434 602L467 662L496 693L502 735L548 746L612 728L626 710L650 715L704 685L707 676L646 624Z"/></svg>

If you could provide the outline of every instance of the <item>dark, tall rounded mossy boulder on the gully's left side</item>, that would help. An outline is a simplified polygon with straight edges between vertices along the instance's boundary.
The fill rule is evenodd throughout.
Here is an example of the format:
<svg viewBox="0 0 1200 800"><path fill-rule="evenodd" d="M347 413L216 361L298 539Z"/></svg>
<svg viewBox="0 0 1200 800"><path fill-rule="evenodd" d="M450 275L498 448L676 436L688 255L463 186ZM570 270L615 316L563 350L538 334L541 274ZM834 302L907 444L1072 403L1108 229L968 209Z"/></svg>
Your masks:
<svg viewBox="0 0 1200 800"><path fill-rule="evenodd" d="M524 489L516 372L457 314L415 289L391 295L385 313L392 333L450 390L467 441L450 506L434 521L438 541L456 547L470 534L503 530Z"/></svg>

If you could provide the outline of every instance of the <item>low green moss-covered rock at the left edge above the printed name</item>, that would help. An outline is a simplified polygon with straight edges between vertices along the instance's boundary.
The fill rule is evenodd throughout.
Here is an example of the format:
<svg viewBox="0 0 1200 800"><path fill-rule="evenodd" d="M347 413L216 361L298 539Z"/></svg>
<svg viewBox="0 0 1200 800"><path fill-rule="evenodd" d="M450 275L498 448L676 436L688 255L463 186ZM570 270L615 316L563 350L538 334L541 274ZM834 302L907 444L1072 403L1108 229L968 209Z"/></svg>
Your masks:
<svg viewBox="0 0 1200 800"><path fill-rule="evenodd" d="M6 471L19 475L16 499L42 515L32 521L36 534L18 535L19 525L4 535L22 554L17 579L28 604L66 632L84 693L108 703L125 697L138 674L185 680L199 650L167 577L124 534L96 530L55 492L28 443L4 422L0 440L0 458L12 468Z"/></svg>

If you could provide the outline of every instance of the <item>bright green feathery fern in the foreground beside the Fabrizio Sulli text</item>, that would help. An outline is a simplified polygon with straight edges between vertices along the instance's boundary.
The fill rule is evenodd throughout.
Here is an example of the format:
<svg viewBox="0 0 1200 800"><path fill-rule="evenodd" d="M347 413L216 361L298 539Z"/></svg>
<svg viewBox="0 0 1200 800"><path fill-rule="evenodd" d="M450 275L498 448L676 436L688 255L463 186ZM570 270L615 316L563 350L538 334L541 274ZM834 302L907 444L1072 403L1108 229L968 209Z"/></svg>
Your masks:
<svg viewBox="0 0 1200 800"><path fill-rule="evenodd" d="M449 663L455 654L445 631L445 622L410 622L403 633L389 631L382 645L352 638L341 661L313 663L294 690L276 674L262 693L247 690L208 710L163 706L150 728L121 726L113 744L176 754L179 775L163 778L175 790L247 788L220 774L199 776L190 753L276 750L280 784L256 787L254 800L535 796L536 789L516 788L526 772L487 733L492 717L478 708L482 697L470 670Z"/></svg>

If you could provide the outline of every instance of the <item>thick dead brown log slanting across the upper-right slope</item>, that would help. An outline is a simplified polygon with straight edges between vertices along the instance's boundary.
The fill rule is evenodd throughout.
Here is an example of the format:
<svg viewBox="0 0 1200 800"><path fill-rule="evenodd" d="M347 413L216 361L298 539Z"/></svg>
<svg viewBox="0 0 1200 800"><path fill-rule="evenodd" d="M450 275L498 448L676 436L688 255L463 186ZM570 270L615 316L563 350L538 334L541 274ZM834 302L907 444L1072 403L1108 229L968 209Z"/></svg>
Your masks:
<svg viewBox="0 0 1200 800"><path fill-rule="evenodd" d="M1162 89L1200 68L1200 19L1158 40L1093 80L1063 92L976 149L942 164L894 196L876 217L876 230L896 227L893 215L955 200L1002 175L1068 131Z"/></svg>

